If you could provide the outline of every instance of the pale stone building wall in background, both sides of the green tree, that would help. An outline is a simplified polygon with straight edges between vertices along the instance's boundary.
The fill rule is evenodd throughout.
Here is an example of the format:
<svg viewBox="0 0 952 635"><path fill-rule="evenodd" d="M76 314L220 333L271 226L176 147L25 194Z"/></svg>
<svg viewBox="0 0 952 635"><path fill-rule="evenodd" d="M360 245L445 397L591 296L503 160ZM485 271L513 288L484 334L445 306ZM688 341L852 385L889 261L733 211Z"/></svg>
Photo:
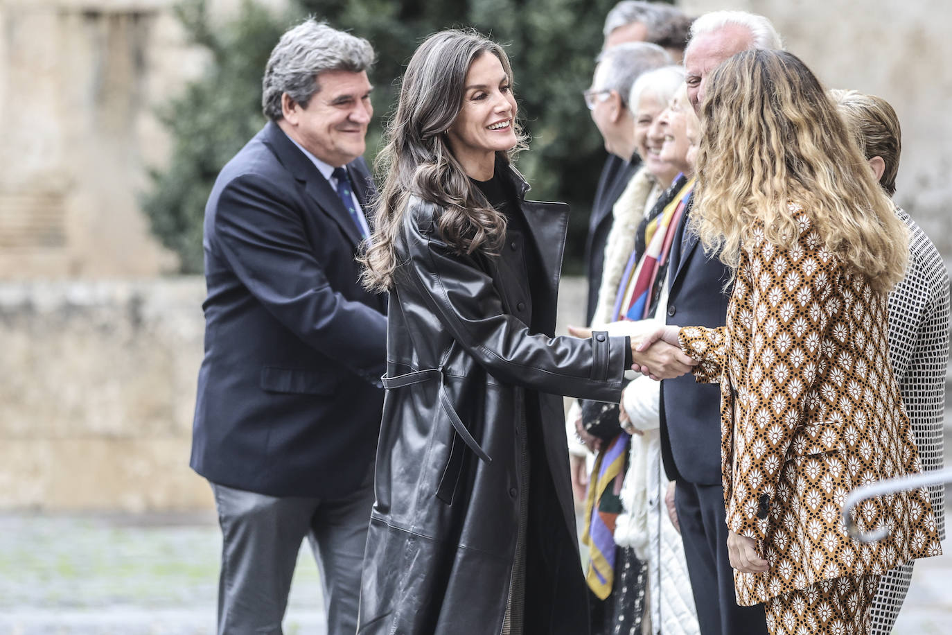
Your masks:
<svg viewBox="0 0 952 635"><path fill-rule="evenodd" d="M168 156L155 109L201 72L175 0L0 0L0 280L135 277L175 266L138 205ZM227 19L241 0L212 0ZM287 0L257 0L278 9ZM902 118L897 199L952 256L952 55L945 0L683 0L764 13L829 85ZM583 122L582 125L590 125Z"/></svg>

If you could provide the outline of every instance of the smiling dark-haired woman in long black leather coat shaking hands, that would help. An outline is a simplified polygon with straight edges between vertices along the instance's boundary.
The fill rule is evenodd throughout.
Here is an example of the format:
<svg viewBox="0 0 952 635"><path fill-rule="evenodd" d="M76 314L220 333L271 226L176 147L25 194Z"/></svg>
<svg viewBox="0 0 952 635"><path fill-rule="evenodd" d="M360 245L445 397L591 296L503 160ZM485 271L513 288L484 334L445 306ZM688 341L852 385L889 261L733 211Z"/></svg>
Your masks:
<svg viewBox="0 0 952 635"><path fill-rule="evenodd" d="M360 633L587 632L560 395L618 401L631 348L553 336L568 209L526 201L515 117L474 31L410 60L365 261L390 306Z"/></svg>

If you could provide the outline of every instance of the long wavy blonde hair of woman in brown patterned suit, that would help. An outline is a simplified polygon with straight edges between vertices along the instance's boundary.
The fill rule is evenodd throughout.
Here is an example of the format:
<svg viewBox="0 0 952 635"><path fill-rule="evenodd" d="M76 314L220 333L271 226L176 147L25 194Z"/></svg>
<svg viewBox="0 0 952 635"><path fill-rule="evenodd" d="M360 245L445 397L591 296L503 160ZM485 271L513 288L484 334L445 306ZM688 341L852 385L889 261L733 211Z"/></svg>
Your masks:
<svg viewBox="0 0 952 635"><path fill-rule="evenodd" d="M702 109L692 224L736 270L756 223L773 244L798 234L787 203L824 247L887 291L902 279L908 232L820 82L795 55L745 50L711 76Z"/></svg>

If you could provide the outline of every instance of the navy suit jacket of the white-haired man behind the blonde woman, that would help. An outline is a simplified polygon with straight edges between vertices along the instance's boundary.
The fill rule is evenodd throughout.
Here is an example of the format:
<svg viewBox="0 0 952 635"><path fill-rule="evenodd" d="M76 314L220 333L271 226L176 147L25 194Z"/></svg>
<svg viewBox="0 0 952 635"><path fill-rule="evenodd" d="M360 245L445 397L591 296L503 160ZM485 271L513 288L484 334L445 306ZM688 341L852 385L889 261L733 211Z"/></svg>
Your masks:
<svg viewBox="0 0 952 635"><path fill-rule="evenodd" d="M693 199L691 199L693 202ZM680 327L723 327L730 270L717 254L704 253L697 234L681 218L671 245L665 322ZM721 389L698 384L688 373L661 383L661 448L669 480L717 485L721 474Z"/></svg>

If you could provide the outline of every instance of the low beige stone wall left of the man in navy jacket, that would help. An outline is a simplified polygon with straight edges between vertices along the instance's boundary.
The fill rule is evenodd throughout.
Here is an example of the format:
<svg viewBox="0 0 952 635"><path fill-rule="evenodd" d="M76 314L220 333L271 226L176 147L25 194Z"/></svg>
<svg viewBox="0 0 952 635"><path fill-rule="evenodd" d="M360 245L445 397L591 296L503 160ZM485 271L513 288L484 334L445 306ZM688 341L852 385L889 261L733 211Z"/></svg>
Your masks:
<svg viewBox="0 0 952 635"><path fill-rule="evenodd" d="M193 509L200 278L0 285L0 508Z"/></svg>

